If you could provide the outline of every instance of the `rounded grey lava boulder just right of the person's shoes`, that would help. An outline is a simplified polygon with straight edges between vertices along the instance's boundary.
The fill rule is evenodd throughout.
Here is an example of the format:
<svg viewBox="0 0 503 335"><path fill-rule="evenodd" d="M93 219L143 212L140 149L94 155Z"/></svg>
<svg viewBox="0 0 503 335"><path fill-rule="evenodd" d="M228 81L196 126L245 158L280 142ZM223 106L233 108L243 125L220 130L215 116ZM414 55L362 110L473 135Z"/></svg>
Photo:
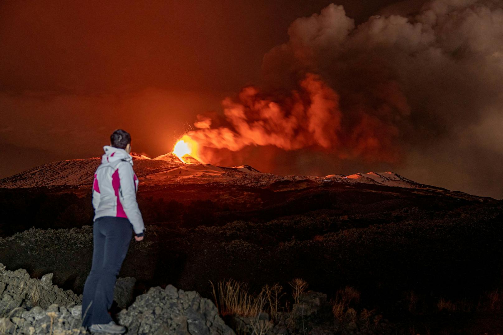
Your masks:
<svg viewBox="0 0 503 335"><path fill-rule="evenodd" d="M209 299L197 292L152 287L118 314L129 334L230 335L234 331L218 315Z"/></svg>

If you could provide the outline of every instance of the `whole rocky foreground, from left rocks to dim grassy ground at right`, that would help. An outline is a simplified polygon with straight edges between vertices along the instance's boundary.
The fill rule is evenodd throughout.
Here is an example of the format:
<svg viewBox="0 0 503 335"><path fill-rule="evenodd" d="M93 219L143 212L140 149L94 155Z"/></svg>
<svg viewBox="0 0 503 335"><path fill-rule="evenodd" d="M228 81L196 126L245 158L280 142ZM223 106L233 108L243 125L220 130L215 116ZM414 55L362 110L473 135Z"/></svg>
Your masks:
<svg viewBox="0 0 503 335"><path fill-rule="evenodd" d="M72 291L52 285L52 274L40 280L19 269L7 271L0 264L0 334L85 334L81 326L81 299ZM291 311L266 312L256 316L227 315L227 325L218 308L195 291L152 287L128 302L134 278L120 278L114 300L126 304L117 322L128 334L231 335L239 334L391 334L397 329L374 311L357 313L349 308L334 318L326 294L302 293Z"/></svg>

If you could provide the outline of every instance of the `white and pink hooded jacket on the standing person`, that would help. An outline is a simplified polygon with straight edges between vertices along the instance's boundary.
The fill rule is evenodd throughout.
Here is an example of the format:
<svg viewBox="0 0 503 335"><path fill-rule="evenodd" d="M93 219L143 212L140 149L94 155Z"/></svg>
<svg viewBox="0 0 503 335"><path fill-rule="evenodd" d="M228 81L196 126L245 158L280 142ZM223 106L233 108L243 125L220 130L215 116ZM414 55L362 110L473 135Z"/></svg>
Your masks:
<svg viewBox="0 0 503 335"><path fill-rule="evenodd" d="M138 178L133 171L133 158L124 149L110 145L103 149L105 154L93 182L94 220L102 216L124 217L133 225L135 234L142 235L145 226L136 202Z"/></svg>

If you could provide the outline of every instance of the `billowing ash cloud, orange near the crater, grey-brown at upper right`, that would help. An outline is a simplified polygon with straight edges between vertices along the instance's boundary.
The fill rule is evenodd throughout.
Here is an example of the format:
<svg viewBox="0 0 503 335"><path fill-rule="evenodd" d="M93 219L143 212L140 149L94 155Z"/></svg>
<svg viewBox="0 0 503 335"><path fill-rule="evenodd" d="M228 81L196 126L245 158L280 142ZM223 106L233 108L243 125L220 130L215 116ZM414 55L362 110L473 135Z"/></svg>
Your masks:
<svg viewBox="0 0 503 335"><path fill-rule="evenodd" d="M355 26L332 4L295 20L289 41L264 56L260 87L225 99L223 118L201 116L188 133L202 155L273 146L295 152L300 172L306 160L326 174L389 167L503 197L503 1L414 1L380 13ZM353 171L336 171L348 161Z"/></svg>

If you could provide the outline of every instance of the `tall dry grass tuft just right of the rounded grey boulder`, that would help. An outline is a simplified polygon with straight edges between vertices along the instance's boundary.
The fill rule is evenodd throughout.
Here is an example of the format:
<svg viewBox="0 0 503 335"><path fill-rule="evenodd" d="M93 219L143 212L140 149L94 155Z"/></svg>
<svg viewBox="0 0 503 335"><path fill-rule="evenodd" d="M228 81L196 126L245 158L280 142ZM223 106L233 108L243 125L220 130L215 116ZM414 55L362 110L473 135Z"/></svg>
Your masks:
<svg viewBox="0 0 503 335"><path fill-rule="evenodd" d="M264 310L266 296L264 290L259 294L248 293L248 285L237 282L233 279L225 282L218 282L217 291L213 288L213 298L220 315L240 315L244 317L257 316ZM218 296L218 297L217 297Z"/></svg>

